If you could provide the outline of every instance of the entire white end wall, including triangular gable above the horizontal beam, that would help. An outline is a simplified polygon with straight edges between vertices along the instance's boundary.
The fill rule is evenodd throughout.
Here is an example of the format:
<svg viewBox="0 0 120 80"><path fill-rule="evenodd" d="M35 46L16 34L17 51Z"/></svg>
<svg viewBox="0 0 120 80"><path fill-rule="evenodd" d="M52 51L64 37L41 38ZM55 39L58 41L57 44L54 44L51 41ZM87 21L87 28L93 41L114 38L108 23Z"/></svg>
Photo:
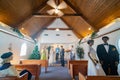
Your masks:
<svg viewBox="0 0 120 80"><path fill-rule="evenodd" d="M57 18L48 28L68 28L68 26L59 18ZM48 34L48 36L44 36L44 34ZM60 36L56 36L59 34ZM70 34L71 36L67 36ZM58 43L58 44L66 44L66 43L75 43L78 38L72 32L72 30L44 30L39 37L39 43Z"/></svg>

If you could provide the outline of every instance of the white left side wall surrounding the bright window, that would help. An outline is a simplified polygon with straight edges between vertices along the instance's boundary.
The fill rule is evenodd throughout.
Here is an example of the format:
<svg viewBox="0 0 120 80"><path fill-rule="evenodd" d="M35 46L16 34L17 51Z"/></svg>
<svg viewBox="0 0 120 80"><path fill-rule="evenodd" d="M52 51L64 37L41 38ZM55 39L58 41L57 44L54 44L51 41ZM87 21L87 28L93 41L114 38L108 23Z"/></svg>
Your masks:
<svg viewBox="0 0 120 80"><path fill-rule="evenodd" d="M27 44L27 53L25 56L20 56L21 46L23 43ZM19 59L28 58L34 48L34 41L32 39L28 37L19 38L19 36L13 32L9 26L2 24L0 25L0 55L9 51L8 48L10 47L10 44L12 52L14 53L13 63L18 63Z"/></svg>

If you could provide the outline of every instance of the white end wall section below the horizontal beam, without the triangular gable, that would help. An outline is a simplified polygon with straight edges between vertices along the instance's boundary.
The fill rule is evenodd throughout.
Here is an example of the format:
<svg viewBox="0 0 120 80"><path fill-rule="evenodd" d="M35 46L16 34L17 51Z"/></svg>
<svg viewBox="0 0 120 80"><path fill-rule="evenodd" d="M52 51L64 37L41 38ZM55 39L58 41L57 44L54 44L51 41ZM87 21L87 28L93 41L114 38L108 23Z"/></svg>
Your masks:
<svg viewBox="0 0 120 80"><path fill-rule="evenodd" d="M48 34L48 36L44 36L44 34ZM59 34L60 36L56 36L56 34ZM67 36L68 34L71 36ZM78 38L72 33L71 30L45 30L40 36L40 43L74 43L77 39Z"/></svg>

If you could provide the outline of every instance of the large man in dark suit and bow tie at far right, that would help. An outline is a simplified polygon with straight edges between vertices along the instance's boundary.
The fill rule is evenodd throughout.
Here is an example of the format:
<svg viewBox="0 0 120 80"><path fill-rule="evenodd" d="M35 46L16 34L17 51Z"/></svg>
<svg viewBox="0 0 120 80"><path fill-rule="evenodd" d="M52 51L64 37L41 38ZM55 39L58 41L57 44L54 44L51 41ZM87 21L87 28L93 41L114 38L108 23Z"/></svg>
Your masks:
<svg viewBox="0 0 120 80"><path fill-rule="evenodd" d="M106 75L118 75L119 53L114 45L107 43L109 37L102 37L104 44L97 46L97 55Z"/></svg>

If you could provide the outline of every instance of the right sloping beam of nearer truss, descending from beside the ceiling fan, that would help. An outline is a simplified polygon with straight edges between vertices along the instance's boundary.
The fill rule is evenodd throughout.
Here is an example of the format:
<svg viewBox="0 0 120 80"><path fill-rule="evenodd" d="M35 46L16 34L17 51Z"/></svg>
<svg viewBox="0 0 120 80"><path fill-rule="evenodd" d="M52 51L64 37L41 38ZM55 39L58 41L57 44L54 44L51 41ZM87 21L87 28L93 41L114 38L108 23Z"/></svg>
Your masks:
<svg viewBox="0 0 120 80"><path fill-rule="evenodd" d="M73 6L69 0L64 0L66 2L67 5L69 5L77 14L81 14L81 17L89 24L91 25L92 29L94 31L98 31L98 29L95 28L95 25L93 23L91 23L88 18L86 16L84 16L84 14L82 13L82 11L80 11L80 9L76 8L75 6Z"/></svg>

